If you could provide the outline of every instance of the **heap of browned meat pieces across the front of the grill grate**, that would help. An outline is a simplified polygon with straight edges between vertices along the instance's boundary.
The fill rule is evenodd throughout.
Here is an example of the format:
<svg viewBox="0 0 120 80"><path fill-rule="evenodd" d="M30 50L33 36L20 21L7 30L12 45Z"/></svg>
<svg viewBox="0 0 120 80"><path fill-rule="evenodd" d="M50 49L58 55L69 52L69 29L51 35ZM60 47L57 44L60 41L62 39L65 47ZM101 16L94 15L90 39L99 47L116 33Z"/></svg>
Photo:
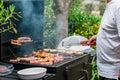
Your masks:
<svg viewBox="0 0 120 80"><path fill-rule="evenodd" d="M58 53L51 53L49 51L38 50L31 56L18 57L16 59L10 59L12 63L27 62L31 64L52 65L54 63L63 61L65 58L72 58L72 56L63 56Z"/></svg>

